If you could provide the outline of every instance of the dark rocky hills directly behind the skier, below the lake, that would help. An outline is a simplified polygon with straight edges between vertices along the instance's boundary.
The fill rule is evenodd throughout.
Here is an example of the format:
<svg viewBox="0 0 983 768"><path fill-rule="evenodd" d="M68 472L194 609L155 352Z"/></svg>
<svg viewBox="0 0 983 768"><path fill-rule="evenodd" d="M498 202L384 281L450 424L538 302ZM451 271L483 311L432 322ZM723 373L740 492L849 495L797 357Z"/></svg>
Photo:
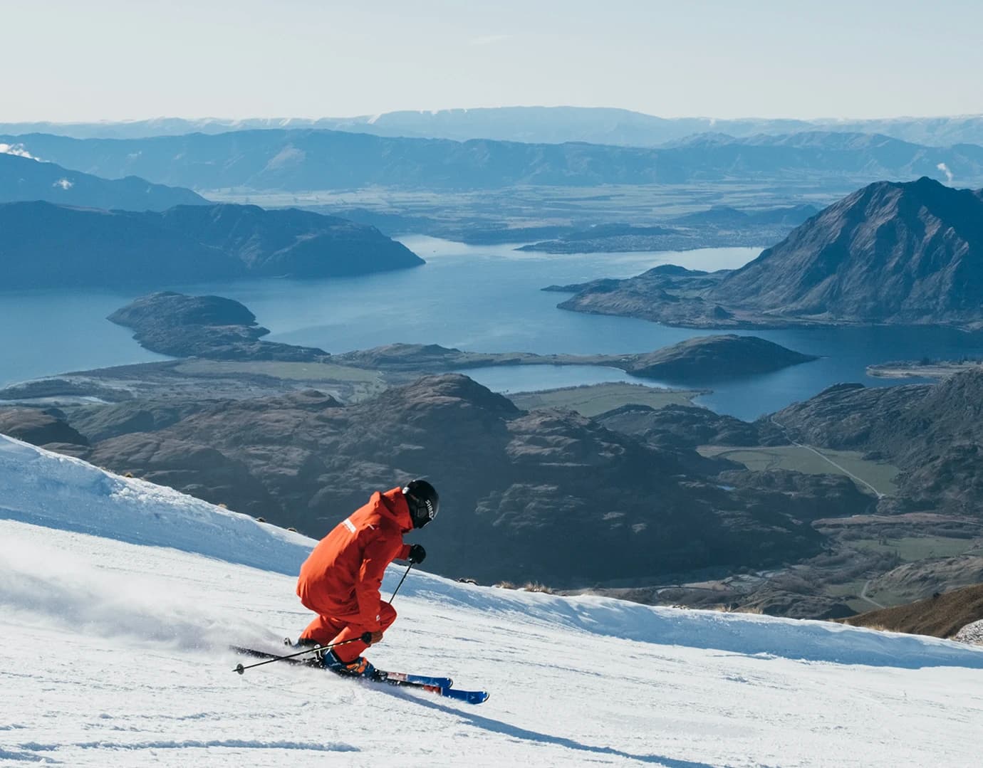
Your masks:
<svg viewBox="0 0 983 768"><path fill-rule="evenodd" d="M88 461L315 536L372 490L427 474L443 510L418 535L427 566L450 576L583 584L775 564L822 540L787 493L730 493L686 467L714 464L693 452L572 412L520 411L456 374L348 407L307 391L68 412Z"/></svg>

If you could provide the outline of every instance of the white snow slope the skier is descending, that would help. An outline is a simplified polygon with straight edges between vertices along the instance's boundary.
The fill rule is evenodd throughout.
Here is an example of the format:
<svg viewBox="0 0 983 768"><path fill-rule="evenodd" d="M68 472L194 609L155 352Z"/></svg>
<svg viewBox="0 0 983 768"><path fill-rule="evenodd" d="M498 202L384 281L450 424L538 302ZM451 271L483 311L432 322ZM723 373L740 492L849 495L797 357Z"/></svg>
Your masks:
<svg viewBox="0 0 983 768"><path fill-rule="evenodd" d="M308 622L313 543L0 436L0 764L978 764L972 647L423 573L370 658L486 704L234 674Z"/></svg>

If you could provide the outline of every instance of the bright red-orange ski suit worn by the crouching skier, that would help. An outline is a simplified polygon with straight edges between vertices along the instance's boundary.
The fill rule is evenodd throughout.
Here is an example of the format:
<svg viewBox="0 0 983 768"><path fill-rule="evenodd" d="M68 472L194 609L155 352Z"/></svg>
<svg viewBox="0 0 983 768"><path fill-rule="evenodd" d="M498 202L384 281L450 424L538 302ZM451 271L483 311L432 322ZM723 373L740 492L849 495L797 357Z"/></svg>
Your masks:
<svg viewBox="0 0 983 768"><path fill-rule="evenodd" d="M393 560L409 557L403 533L412 529L409 507L397 487L376 491L368 504L324 536L297 579L297 596L318 614L301 638L325 644L387 630L396 611L382 602L382 575ZM339 645L335 655L354 661L366 647L356 640Z"/></svg>

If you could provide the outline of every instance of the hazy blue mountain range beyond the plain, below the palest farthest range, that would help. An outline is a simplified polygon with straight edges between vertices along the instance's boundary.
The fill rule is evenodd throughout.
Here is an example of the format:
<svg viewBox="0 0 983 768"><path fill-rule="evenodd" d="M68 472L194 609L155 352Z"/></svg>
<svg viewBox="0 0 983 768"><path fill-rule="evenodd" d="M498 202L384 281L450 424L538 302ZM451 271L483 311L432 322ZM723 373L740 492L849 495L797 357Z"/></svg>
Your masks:
<svg viewBox="0 0 983 768"><path fill-rule="evenodd" d="M571 142L390 138L335 131L239 131L132 139L0 136L35 157L115 179L137 174L198 190L305 192L389 187L764 182L841 190L885 178L983 180L983 147L810 133L695 137L661 149Z"/></svg>

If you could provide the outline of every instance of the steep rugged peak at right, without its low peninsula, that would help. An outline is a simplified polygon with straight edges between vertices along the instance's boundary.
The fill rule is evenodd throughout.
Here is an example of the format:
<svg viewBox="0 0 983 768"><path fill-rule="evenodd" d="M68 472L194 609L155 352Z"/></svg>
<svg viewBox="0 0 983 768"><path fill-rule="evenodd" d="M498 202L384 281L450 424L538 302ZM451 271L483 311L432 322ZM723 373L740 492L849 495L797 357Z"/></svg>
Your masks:
<svg viewBox="0 0 983 768"><path fill-rule="evenodd" d="M983 192L879 182L723 279L727 308L857 323L983 324Z"/></svg>

